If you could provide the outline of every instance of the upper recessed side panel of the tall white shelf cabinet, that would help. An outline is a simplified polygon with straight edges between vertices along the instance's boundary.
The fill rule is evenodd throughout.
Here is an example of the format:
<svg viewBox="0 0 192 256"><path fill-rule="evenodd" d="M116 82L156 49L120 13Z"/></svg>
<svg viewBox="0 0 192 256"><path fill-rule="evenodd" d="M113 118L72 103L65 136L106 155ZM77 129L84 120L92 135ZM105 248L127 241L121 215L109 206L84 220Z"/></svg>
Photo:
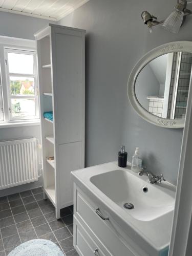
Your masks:
<svg viewBox="0 0 192 256"><path fill-rule="evenodd" d="M84 41L79 31L69 32L69 30L60 31L59 29L55 30L54 39L52 57L56 144L82 141L84 137Z"/></svg>

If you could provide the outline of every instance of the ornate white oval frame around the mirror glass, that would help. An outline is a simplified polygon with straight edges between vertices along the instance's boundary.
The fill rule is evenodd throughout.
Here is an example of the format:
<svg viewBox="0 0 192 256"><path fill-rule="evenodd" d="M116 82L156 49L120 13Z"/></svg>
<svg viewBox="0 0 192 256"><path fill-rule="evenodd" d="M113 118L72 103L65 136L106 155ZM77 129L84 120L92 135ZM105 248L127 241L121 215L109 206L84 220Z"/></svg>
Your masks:
<svg viewBox="0 0 192 256"><path fill-rule="evenodd" d="M155 116L142 107L142 105L139 103L135 94L136 79L139 73L141 72L141 70L153 59L161 55L172 53L172 52L192 53L192 41L168 42L167 44L161 45L157 48L154 48L150 52L146 53L137 62L137 64L135 65L135 67L133 68L130 74L129 80L127 82L127 95L134 110L137 112L137 114L140 117L142 117L147 122L153 123L161 127L166 127L166 128L183 128L185 119L165 119L165 118ZM189 84L191 84L191 76L190 76Z"/></svg>

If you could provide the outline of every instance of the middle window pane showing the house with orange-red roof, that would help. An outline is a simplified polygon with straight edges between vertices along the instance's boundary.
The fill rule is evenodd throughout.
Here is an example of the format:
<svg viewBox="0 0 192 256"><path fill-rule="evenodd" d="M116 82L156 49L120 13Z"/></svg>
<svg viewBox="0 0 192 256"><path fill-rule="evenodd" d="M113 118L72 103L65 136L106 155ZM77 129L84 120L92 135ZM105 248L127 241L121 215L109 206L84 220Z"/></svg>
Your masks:
<svg viewBox="0 0 192 256"><path fill-rule="evenodd" d="M11 95L35 95L34 78L10 76Z"/></svg>

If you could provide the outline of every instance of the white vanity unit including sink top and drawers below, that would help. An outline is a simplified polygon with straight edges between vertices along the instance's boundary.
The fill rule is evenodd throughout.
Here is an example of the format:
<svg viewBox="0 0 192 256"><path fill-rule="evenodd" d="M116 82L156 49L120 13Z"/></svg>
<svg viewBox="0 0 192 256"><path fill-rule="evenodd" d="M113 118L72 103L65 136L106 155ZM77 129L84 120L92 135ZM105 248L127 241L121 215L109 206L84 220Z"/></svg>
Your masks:
<svg viewBox="0 0 192 256"><path fill-rule="evenodd" d="M175 186L150 184L129 163L121 168L117 162L75 170L72 179L73 242L80 256L168 255ZM134 208L125 209L126 202Z"/></svg>

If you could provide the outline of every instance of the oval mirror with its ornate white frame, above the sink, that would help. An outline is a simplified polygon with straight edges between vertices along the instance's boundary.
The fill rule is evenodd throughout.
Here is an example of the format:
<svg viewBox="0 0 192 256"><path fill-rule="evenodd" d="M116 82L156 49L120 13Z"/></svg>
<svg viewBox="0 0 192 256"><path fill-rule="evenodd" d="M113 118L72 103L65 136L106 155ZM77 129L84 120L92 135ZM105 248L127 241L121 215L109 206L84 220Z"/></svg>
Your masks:
<svg viewBox="0 0 192 256"><path fill-rule="evenodd" d="M131 72L127 94L146 121L184 127L191 82L192 42L171 42L144 55Z"/></svg>

